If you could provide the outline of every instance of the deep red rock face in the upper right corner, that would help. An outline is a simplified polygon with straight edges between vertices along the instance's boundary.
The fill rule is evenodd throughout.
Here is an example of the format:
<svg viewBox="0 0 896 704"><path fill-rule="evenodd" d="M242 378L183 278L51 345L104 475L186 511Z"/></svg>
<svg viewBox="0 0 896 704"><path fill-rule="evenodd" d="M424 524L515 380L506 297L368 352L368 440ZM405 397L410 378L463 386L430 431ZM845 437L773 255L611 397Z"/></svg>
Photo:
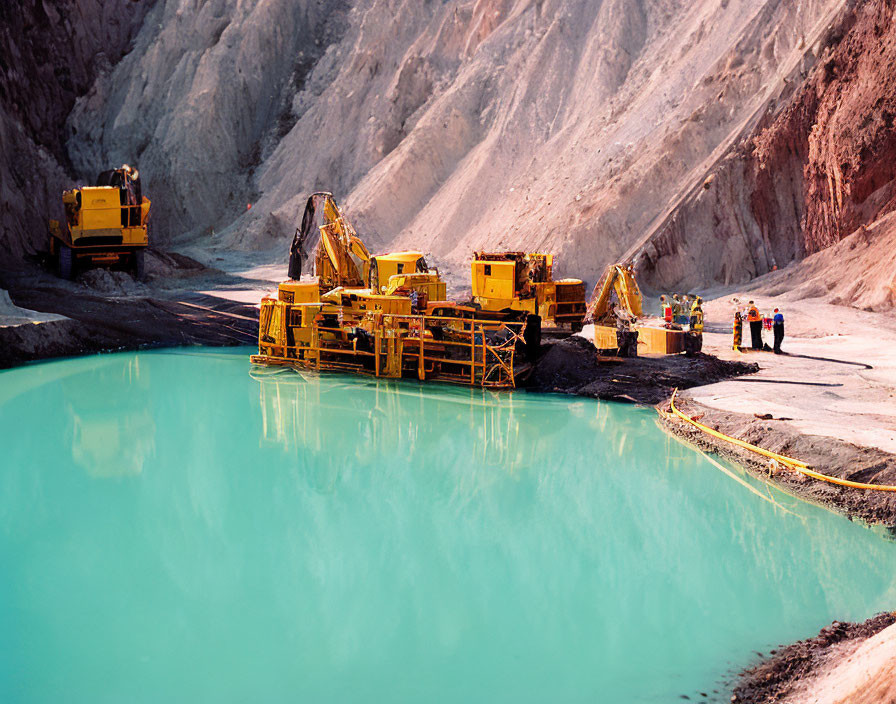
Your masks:
<svg viewBox="0 0 896 704"><path fill-rule="evenodd" d="M779 218L791 212L769 204L782 180L798 183L793 170L801 162L801 253L829 247L896 208L894 11L893 0L851 8L791 105L753 139L751 202L769 233L787 227Z"/></svg>

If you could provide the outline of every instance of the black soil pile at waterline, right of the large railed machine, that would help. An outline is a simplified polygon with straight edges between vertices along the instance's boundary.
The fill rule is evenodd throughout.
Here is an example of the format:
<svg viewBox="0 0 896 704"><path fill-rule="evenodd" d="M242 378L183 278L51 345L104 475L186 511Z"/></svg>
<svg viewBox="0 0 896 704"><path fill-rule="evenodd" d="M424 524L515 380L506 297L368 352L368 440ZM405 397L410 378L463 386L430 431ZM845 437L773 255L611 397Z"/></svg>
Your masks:
<svg viewBox="0 0 896 704"><path fill-rule="evenodd" d="M675 388L712 384L756 371L757 364L726 362L702 353L692 357L599 358L589 340L574 335L547 346L526 388L653 405L668 399Z"/></svg>

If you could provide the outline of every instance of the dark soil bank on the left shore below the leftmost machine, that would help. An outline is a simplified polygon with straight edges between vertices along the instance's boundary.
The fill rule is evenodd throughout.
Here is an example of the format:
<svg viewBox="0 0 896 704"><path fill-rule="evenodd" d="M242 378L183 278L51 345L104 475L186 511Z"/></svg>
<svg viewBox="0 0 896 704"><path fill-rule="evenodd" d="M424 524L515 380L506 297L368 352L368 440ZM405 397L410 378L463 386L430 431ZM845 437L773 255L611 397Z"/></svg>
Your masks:
<svg viewBox="0 0 896 704"><path fill-rule="evenodd" d="M41 266L39 261L26 262L14 272L0 271L0 288L8 290L15 305L66 317L0 327L0 369L93 352L257 344L257 308L194 290L197 285L236 287L237 279L189 257L155 249L147 251L146 265L147 283L105 269L82 272L75 282L63 281L47 271L47 262Z"/></svg>

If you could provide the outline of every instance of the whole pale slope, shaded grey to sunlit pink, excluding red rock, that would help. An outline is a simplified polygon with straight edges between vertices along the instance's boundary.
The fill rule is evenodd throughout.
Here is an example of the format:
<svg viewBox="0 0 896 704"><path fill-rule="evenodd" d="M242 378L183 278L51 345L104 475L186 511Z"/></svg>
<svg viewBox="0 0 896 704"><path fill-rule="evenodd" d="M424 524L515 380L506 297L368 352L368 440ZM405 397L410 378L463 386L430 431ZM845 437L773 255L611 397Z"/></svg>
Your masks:
<svg viewBox="0 0 896 704"><path fill-rule="evenodd" d="M328 188L374 247L549 248L593 279L790 96L843 4L159 0L68 148L137 162L160 236L281 251Z"/></svg>

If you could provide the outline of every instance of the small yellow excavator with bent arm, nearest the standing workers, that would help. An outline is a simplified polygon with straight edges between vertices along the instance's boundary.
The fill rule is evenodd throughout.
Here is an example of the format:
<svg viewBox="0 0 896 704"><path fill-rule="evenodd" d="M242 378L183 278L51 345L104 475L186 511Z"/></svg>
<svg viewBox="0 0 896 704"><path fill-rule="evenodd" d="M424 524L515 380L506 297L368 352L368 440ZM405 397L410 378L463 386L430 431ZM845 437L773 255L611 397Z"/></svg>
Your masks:
<svg viewBox="0 0 896 704"><path fill-rule="evenodd" d="M594 322L594 346L607 354L695 352L702 347L699 332L685 332L662 323L643 322L641 290L631 266L611 264L594 287L588 319Z"/></svg>

